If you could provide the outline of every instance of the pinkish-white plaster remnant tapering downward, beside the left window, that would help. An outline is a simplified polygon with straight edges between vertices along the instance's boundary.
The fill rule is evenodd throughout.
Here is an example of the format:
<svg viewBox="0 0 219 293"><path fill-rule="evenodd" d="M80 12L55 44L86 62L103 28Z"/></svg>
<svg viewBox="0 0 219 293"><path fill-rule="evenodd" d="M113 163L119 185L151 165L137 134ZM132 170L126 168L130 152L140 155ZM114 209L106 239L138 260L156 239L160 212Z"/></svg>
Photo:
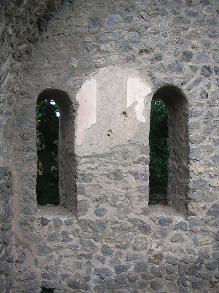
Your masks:
<svg viewBox="0 0 219 293"><path fill-rule="evenodd" d="M97 82L96 79L86 80L76 95L79 103L77 116L76 144L80 146L84 131L96 123Z"/></svg>

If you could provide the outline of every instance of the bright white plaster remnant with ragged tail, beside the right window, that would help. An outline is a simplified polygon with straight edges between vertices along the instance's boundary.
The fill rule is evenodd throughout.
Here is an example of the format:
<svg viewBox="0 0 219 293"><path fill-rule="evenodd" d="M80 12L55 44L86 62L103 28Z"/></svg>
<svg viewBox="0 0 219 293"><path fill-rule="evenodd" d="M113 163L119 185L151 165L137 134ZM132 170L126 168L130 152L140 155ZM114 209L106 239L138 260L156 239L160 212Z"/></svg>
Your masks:
<svg viewBox="0 0 219 293"><path fill-rule="evenodd" d="M142 115L145 109L144 100L151 92L151 88L140 82L139 78L129 77L127 81L127 108L130 107L134 102L138 102L135 106L136 117L138 121L145 122L145 117Z"/></svg>

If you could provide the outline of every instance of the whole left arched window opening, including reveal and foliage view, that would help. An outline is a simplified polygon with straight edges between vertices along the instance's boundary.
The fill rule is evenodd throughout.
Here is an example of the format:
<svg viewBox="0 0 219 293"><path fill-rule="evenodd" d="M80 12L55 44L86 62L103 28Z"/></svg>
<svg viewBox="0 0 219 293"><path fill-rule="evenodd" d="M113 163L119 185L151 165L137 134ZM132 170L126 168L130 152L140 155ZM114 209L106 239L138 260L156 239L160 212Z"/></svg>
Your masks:
<svg viewBox="0 0 219 293"><path fill-rule="evenodd" d="M41 205L60 203L76 215L74 107L64 91L46 89L39 94L36 111L39 112L36 118L41 115L44 127L44 132L40 132L37 122L37 202Z"/></svg>

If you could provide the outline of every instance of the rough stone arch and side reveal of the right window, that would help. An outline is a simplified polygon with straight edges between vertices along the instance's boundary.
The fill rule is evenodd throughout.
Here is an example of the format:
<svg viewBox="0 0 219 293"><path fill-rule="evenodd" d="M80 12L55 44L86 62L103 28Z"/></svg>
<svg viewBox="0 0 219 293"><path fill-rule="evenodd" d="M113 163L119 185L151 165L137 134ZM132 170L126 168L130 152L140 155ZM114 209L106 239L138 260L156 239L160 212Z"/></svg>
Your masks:
<svg viewBox="0 0 219 293"><path fill-rule="evenodd" d="M157 102L155 102L156 100ZM187 213L186 204L189 182L188 102L187 98L176 86L161 87L154 94L152 105L159 104L159 100L166 105L168 113L167 202L178 211ZM166 122L163 127L166 127ZM149 185L152 188L152 182Z"/></svg>

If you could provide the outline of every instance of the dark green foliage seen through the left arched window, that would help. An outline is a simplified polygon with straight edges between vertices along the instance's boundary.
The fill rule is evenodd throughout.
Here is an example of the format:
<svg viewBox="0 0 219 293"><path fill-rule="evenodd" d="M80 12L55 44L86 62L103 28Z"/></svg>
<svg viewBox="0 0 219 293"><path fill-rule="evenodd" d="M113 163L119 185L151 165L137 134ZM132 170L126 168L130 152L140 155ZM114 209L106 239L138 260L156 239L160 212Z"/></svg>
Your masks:
<svg viewBox="0 0 219 293"><path fill-rule="evenodd" d="M58 191L58 135L59 112L57 104L42 100L36 105L36 132L38 162L36 195L40 205L59 204Z"/></svg>

